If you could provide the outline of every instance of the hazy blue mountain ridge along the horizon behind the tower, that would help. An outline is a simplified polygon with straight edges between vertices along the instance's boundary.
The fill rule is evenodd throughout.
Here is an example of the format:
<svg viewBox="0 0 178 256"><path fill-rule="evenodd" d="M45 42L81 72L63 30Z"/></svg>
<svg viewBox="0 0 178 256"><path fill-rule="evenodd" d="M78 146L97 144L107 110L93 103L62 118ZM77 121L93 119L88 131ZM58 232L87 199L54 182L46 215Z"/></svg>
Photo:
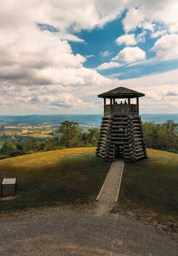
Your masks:
<svg viewBox="0 0 178 256"><path fill-rule="evenodd" d="M8 124L42 124L44 122L59 124L63 121L78 122L83 125L100 125L101 118L103 115L80 115L80 114L69 114L69 115L25 115L25 116L2 116L0 115L0 123L6 122ZM178 114L141 114L142 121L155 121L156 123L163 123L166 120L173 120L178 123Z"/></svg>

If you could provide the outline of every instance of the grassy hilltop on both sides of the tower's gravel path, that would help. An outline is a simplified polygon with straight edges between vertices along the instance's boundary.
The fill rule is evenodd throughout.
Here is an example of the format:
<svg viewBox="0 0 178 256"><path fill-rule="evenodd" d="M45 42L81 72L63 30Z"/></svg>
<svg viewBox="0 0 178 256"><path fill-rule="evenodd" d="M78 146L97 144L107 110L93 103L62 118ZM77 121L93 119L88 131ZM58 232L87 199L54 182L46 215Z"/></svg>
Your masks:
<svg viewBox="0 0 178 256"><path fill-rule="evenodd" d="M113 212L178 225L178 154L148 149L149 160L125 163L119 201ZM0 160L0 178L18 177L17 194L0 199L1 213L96 199L111 166L95 157L95 147L48 151ZM4 187L4 195L14 187ZM151 220L150 219L150 220Z"/></svg>

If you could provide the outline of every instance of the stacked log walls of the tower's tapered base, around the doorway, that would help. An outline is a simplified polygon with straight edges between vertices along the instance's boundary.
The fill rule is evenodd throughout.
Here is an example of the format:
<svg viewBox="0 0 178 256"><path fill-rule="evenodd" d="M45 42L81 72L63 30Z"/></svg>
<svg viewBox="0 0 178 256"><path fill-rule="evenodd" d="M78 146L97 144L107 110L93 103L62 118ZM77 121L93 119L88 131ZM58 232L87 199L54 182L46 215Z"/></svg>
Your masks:
<svg viewBox="0 0 178 256"><path fill-rule="evenodd" d="M147 158L141 117L138 115L103 116L96 155L114 160L114 143L125 145L125 162Z"/></svg>

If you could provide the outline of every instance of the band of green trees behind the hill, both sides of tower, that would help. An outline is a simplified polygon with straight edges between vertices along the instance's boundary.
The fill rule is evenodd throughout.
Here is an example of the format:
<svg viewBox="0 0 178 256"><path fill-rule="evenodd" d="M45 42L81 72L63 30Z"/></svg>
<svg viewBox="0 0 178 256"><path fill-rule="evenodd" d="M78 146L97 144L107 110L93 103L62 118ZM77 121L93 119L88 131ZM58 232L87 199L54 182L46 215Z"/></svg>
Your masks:
<svg viewBox="0 0 178 256"><path fill-rule="evenodd" d="M178 124L167 120L163 124L144 122L146 147L178 153ZM83 131L78 123L64 121L58 129L59 137L46 141L35 138L18 142L6 141L0 149L0 159L71 147L92 147L97 145L100 130L90 128Z"/></svg>

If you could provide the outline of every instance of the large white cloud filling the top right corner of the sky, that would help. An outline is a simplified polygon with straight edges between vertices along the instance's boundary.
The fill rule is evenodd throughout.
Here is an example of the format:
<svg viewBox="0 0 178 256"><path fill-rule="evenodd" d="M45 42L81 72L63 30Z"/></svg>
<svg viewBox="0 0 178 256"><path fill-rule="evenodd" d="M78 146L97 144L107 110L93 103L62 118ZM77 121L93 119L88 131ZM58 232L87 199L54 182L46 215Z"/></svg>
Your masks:
<svg viewBox="0 0 178 256"><path fill-rule="evenodd" d="M137 8L135 7L137 6ZM156 22L166 24L171 32L178 31L178 2L176 0L137 0L128 3L128 11L123 20L125 31L138 26L153 31Z"/></svg>

